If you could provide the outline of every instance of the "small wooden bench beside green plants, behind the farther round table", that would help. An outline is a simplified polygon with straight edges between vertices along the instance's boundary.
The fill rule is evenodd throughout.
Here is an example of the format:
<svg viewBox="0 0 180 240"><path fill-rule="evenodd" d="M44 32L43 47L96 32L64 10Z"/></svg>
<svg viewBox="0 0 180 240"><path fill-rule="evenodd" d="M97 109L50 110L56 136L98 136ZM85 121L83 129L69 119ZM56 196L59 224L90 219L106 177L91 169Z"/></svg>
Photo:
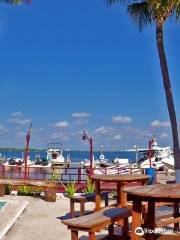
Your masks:
<svg viewBox="0 0 180 240"><path fill-rule="evenodd" d="M100 197L105 201L105 206L107 207L109 202L108 202L108 192L101 192ZM70 198L70 217L74 218L75 217L75 210L74 206L75 203L80 203L80 216L85 215L85 203L86 202L95 202L95 193L90 193L90 194L82 194L79 196L75 196Z"/></svg>

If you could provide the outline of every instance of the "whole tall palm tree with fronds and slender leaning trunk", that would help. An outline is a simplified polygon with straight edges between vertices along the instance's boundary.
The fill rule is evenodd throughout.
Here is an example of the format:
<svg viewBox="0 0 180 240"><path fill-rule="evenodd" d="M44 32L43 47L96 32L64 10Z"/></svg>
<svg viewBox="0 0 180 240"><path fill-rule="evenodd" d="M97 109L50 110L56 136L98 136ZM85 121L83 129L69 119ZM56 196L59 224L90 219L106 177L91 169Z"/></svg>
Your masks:
<svg viewBox="0 0 180 240"><path fill-rule="evenodd" d="M180 182L180 147L178 139L178 127L174 107L171 82L164 48L163 27L166 21L175 15L176 20L180 18L179 0L106 0L111 6L114 3L127 3L127 13L130 18L138 24L140 30L155 23L156 42L160 60L160 67L163 78L163 85L166 94L166 102L171 122L173 136L174 162L176 169L176 182Z"/></svg>

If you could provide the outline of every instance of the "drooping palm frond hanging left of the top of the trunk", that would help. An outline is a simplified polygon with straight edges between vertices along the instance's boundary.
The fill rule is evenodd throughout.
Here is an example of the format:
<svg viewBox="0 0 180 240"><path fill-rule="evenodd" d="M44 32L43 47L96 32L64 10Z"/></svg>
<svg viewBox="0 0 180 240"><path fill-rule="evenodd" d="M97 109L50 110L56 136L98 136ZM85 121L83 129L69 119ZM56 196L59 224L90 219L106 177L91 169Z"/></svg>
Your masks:
<svg viewBox="0 0 180 240"><path fill-rule="evenodd" d="M153 11L147 1L128 5L127 12L140 30L153 21Z"/></svg>

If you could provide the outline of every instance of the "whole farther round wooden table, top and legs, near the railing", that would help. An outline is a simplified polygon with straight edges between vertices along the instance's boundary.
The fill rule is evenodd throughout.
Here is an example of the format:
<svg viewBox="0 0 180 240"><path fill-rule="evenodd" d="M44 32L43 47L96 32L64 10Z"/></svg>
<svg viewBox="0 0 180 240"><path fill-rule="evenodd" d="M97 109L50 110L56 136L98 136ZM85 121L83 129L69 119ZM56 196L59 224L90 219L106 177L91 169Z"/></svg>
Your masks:
<svg viewBox="0 0 180 240"><path fill-rule="evenodd" d="M101 174L101 175L93 175L91 179L95 182L95 211L100 210L100 192L101 192L101 182L106 183L116 183L117 186L117 205L119 207L126 207L127 202L127 194L123 191L124 187L128 183L139 182L144 184L150 176L145 174Z"/></svg>

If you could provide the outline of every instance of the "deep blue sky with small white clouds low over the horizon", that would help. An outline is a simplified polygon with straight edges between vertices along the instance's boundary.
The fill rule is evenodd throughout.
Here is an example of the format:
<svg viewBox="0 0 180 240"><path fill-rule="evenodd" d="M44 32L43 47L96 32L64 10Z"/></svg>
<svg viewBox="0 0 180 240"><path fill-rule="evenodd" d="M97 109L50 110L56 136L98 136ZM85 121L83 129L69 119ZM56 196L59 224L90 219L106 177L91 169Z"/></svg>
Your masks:
<svg viewBox="0 0 180 240"><path fill-rule="evenodd" d="M180 24L165 26L180 121ZM0 5L0 146L62 142L64 148L172 145L154 26L139 32L125 9L105 1L33 0Z"/></svg>

